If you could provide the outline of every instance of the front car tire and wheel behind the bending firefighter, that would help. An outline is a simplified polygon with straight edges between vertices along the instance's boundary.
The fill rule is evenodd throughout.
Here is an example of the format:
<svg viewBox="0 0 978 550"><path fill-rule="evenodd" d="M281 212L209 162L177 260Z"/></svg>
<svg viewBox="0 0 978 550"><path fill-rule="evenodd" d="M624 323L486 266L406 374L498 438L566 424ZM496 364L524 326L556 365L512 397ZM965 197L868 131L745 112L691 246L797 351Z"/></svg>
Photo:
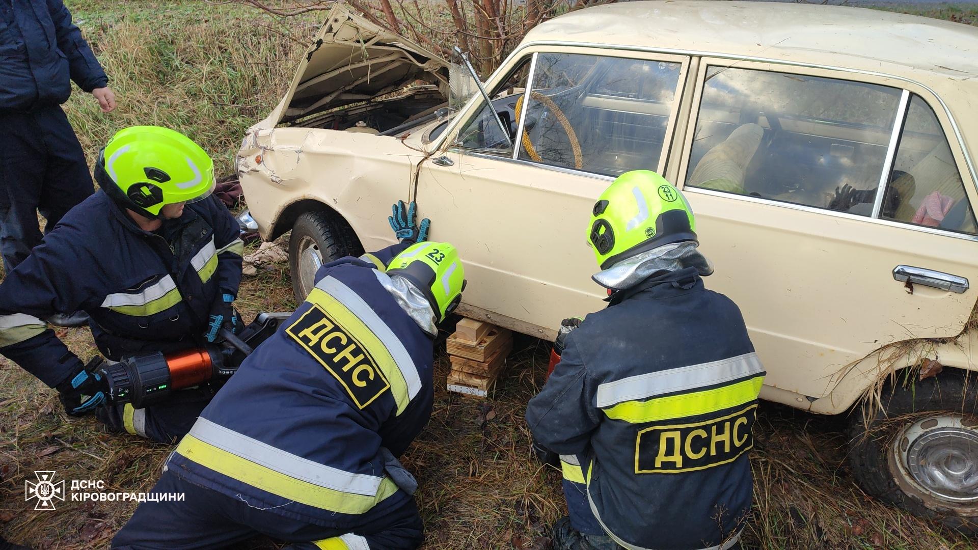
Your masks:
<svg viewBox="0 0 978 550"><path fill-rule="evenodd" d="M302 301L309 296L319 265L361 253L353 229L336 214L312 210L299 215L289 237L289 272L295 299Z"/></svg>

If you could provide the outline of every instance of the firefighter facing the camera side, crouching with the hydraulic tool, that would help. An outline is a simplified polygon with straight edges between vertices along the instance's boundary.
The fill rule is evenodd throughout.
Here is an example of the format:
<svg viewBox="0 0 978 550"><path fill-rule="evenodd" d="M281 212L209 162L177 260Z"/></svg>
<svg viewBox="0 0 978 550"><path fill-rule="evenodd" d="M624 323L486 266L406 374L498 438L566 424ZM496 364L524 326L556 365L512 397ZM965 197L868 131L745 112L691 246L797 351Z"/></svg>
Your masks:
<svg viewBox="0 0 978 550"><path fill-rule="evenodd" d="M102 381L41 319L89 315L95 344L111 360L213 341L238 325L232 301L242 277L237 221L211 197L210 157L166 128L117 132L95 166L101 191L72 208L0 284L0 353L51 388L67 414L105 402ZM116 432L172 442L190 430L209 388L182 390L145 409L105 406Z"/></svg>

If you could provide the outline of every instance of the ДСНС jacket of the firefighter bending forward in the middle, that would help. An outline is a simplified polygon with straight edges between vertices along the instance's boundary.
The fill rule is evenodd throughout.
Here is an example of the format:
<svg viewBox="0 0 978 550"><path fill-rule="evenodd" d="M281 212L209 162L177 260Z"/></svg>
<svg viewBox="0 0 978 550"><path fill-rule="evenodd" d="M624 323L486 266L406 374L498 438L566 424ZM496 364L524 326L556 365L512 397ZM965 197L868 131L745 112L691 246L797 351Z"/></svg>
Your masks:
<svg viewBox="0 0 978 550"><path fill-rule="evenodd" d="M375 256L384 265L407 244ZM347 256L214 396L168 471L249 506L356 531L405 506L390 467L431 413L433 341ZM381 277L386 275L380 273Z"/></svg>

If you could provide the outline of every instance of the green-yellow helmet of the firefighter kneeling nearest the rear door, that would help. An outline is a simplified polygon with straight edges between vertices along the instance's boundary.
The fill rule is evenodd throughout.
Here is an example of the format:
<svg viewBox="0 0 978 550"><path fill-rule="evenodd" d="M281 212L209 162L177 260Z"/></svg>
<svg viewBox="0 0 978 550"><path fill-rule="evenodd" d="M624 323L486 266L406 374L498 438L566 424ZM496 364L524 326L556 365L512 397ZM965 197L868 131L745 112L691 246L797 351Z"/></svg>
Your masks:
<svg viewBox="0 0 978 550"><path fill-rule="evenodd" d="M692 208L679 189L651 170L618 176L595 203L588 245L601 269L662 245L696 239Z"/></svg>

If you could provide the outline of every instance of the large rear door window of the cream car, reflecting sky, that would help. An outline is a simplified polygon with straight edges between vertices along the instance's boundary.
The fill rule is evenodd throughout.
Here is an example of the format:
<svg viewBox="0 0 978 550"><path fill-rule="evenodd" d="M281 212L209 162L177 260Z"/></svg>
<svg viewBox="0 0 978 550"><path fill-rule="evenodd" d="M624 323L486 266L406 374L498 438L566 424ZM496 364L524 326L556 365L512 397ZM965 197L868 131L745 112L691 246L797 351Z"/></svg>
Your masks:
<svg viewBox="0 0 978 550"><path fill-rule="evenodd" d="M871 215L902 91L710 67L687 185Z"/></svg>

